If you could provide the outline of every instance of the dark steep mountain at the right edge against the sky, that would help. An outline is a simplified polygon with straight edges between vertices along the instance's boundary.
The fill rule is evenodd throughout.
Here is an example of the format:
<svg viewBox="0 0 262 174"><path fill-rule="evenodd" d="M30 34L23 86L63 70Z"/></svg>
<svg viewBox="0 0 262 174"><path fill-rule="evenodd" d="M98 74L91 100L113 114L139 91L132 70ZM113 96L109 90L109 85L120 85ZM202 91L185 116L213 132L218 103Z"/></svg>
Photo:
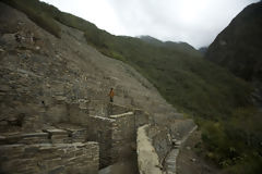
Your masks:
<svg viewBox="0 0 262 174"><path fill-rule="evenodd" d="M246 80L262 82L262 2L240 12L216 37L205 58Z"/></svg>

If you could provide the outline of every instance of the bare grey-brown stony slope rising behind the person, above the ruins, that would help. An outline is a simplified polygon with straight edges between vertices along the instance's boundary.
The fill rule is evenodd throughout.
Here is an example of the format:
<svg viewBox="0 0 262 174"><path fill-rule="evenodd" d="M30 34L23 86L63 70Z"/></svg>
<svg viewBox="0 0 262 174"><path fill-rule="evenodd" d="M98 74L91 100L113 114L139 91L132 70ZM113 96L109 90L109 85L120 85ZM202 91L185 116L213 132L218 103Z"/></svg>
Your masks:
<svg viewBox="0 0 262 174"><path fill-rule="evenodd" d="M0 27L1 123L15 121L21 113L23 121L31 120L40 114L43 105L57 100L106 103L110 87L115 88L116 104L141 108L152 115L181 117L131 66L86 45L82 32L57 23L61 28L58 39L23 13L3 3L0 8L0 23L4 24ZM22 37L21 42L15 40L16 34ZM62 122L56 112L59 111L45 116L47 123ZM1 132L8 130L4 127Z"/></svg>

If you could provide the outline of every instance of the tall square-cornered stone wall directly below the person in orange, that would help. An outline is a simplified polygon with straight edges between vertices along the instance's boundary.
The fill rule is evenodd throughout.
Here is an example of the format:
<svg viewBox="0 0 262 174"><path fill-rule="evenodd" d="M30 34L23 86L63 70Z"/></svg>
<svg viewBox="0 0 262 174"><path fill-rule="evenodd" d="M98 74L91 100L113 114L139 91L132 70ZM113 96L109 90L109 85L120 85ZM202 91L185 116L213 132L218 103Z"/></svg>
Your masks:
<svg viewBox="0 0 262 174"><path fill-rule="evenodd" d="M114 110L126 109L115 105ZM85 123L87 139L99 142L99 166L105 167L135 153L135 130L139 125L148 123L148 114L135 110L109 117L88 116Z"/></svg>

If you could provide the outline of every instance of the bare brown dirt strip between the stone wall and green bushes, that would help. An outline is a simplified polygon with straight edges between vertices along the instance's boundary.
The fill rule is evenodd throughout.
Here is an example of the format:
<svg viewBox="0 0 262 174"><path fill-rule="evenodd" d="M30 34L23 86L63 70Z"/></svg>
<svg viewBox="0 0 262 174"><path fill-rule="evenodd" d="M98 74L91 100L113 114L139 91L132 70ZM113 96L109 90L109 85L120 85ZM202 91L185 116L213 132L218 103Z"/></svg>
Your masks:
<svg viewBox="0 0 262 174"><path fill-rule="evenodd" d="M219 174L219 170L195 153L195 145L201 141L201 133L195 130L190 135L177 158L178 174Z"/></svg>

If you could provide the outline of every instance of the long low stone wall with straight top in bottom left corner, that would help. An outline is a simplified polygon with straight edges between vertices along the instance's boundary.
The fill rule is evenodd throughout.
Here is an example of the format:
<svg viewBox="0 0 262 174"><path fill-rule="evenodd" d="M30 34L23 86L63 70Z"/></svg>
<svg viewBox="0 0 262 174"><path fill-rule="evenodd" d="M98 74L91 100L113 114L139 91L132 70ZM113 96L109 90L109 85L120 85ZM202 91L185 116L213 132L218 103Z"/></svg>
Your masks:
<svg viewBox="0 0 262 174"><path fill-rule="evenodd" d="M0 173L96 174L98 144L1 145Z"/></svg>

